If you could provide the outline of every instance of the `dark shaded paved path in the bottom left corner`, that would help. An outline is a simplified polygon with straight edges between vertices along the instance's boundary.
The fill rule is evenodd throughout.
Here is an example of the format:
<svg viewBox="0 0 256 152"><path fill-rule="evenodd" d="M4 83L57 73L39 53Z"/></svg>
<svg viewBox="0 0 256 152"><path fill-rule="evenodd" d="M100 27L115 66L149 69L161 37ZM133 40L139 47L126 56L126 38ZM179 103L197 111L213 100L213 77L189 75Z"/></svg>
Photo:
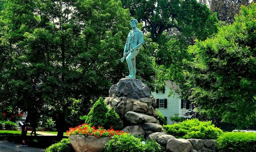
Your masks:
<svg viewBox="0 0 256 152"><path fill-rule="evenodd" d="M21 144L0 140L0 152L45 152L45 149L30 146L23 147Z"/></svg>

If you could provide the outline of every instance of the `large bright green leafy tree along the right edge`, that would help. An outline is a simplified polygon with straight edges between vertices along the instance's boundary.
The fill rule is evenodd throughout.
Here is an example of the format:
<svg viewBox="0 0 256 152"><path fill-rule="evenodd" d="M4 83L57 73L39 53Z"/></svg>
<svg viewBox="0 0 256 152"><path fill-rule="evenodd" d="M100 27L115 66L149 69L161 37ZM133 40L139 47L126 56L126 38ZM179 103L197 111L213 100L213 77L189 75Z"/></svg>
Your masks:
<svg viewBox="0 0 256 152"><path fill-rule="evenodd" d="M256 124L255 12L255 3L242 6L233 24L190 46L186 82L180 84L190 90L199 111L241 129Z"/></svg>

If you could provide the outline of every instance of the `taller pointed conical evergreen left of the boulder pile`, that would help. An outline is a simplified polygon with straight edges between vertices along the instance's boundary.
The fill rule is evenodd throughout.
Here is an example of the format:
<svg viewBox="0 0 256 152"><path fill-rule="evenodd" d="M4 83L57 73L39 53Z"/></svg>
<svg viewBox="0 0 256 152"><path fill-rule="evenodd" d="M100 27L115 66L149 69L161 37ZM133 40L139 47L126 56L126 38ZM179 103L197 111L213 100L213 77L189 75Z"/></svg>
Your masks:
<svg viewBox="0 0 256 152"><path fill-rule="evenodd" d="M105 115L107 112L107 104L102 97L100 97L88 113L85 123L90 124L91 127L105 126Z"/></svg>

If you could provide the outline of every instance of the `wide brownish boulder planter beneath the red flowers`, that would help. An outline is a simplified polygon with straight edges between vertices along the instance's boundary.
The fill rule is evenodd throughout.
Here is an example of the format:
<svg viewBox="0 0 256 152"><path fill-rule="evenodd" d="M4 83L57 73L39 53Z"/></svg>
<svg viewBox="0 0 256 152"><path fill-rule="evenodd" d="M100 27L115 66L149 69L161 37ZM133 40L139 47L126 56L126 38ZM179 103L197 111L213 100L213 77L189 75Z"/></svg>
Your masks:
<svg viewBox="0 0 256 152"><path fill-rule="evenodd" d="M99 152L111 140L109 137L97 138L90 135L87 137L84 137L84 135L71 135L69 138L76 152Z"/></svg>

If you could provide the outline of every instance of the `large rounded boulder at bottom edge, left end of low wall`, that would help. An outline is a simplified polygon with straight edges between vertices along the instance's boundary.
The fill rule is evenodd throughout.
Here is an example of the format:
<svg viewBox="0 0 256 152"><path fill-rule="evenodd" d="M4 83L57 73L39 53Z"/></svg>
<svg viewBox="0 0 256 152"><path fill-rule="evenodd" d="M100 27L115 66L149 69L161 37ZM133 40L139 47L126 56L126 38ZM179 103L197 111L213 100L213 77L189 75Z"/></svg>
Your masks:
<svg viewBox="0 0 256 152"><path fill-rule="evenodd" d="M192 144L186 139L169 139L166 149L171 152L189 152L193 149Z"/></svg>

